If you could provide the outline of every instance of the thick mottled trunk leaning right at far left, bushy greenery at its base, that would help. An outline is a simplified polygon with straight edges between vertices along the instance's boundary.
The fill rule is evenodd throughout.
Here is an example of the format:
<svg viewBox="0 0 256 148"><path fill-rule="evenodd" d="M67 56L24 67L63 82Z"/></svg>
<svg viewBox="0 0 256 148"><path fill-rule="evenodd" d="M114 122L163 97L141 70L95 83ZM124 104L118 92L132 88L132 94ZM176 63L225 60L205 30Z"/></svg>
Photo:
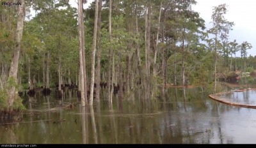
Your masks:
<svg viewBox="0 0 256 148"><path fill-rule="evenodd" d="M9 73L9 80L14 80L14 82L17 82L17 72L19 68L19 56L20 56L20 45L22 40L22 32L23 32L23 22L25 18L25 6L24 6L24 0L19 0L21 5L19 5L18 8L18 19L17 19L17 29L16 29L16 46L15 50L12 55L12 63L10 66L10 73ZM8 100L8 109L12 107L13 101L15 99L15 86L12 86L9 90L9 100Z"/></svg>

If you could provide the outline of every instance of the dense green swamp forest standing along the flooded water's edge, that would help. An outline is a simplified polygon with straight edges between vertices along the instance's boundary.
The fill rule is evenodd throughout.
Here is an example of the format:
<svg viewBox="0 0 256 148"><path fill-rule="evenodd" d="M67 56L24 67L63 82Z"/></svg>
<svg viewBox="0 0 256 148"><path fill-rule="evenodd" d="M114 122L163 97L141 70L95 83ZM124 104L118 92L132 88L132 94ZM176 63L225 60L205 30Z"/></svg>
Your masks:
<svg viewBox="0 0 256 148"><path fill-rule="evenodd" d="M213 93L220 82L255 82L244 76L256 75L252 45L229 40L236 22L225 18L226 4L212 8L206 29L195 0L19 2L0 6L2 111L23 110L19 94L56 88L77 89L84 106L113 96L162 99L170 85Z"/></svg>

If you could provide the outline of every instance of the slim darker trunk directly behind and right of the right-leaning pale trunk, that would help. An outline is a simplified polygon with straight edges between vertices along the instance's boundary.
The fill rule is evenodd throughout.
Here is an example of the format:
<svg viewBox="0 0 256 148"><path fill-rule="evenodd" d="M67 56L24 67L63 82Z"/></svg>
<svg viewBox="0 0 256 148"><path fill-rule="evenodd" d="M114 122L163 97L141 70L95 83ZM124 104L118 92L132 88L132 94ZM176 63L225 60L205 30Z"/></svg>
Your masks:
<svg viewBox="0 0 256 148"><path fill-rule="evenodd" d="M99 16L98 16L98 52L97 52L97 68L96 68L96 101L100 101L100 52L101 52L101 9L102 0L99 0Z"/></svg>

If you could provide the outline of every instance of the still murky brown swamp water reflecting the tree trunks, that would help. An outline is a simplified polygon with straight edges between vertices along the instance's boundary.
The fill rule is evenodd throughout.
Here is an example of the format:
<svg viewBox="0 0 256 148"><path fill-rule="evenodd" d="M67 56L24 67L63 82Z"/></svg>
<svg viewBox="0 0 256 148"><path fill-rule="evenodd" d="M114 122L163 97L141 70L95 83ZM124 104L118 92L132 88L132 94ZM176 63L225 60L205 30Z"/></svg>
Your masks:
<svg viewBox="0 0 256 148"><path fill-rule="evenodd" d="M74 103L72 109L52 109L61 103L54 93L26 96L23 121L0 125L0 143L256 144L256 110L218 103L196 88L186 89L186 98L182 89L175 92L168 89L165 101L115 98L113 105L102 94L100 103L84 108L76 93L66 90L62 101ZM234 93L230 98L253 103L255 94ZM41 114L29 114L35 112Z"/></svg>

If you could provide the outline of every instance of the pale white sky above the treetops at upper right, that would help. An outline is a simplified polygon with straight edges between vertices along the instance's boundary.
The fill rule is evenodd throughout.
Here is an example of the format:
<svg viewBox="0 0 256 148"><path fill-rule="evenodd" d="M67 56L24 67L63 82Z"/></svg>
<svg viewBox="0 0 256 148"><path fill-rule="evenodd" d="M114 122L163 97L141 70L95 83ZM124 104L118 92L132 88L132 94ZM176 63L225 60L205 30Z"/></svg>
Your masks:
<svg viewBox="0 0 256 148"><path fill-rule="evenodd" d="M200 13L200 17L205 20L205 26L211 27L211 15L213 6L219 4L227 4L227 14L225 18L234 22L235 26L230 31L230 41L236 40L237 43L248 41L253 48L248 50L248 56L256 56L256 1L254 0L196 0L197 4L193 6L193 10ZM237 52L237 56L240 52Z"/></svg>

